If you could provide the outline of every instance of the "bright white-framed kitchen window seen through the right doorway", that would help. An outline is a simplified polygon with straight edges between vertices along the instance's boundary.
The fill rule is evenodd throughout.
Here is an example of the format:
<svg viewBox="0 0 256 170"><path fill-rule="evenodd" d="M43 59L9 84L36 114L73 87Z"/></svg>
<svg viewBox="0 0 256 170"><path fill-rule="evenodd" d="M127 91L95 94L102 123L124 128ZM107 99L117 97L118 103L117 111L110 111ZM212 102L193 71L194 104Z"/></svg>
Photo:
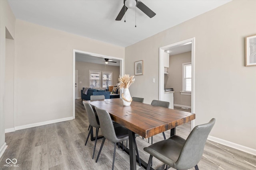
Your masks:
<svg viewBox="0 0 256 170"><path fill-rule="evenodd" d="M191 95L191 87L192 87L191 63L183 63L182 68L183 68L183 70L182 70L182 93L185 95Z"/></svg>

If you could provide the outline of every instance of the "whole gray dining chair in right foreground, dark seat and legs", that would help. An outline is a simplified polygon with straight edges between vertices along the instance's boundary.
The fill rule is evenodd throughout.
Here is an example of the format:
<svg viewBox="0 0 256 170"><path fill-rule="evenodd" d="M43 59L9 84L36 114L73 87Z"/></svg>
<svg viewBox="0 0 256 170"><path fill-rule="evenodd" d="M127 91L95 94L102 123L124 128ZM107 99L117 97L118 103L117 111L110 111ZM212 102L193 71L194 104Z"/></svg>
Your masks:
<svg viewBox="0 0 256 170"><path fill-rule="evenodd" d="M144 148L150 154L147 170L150 169L153 156L177 170L193 167L198 170L197 164L203 155L204 145L214 123L215 119L212 118L209 123L194 127L186 140L174 135Z"/></svg>

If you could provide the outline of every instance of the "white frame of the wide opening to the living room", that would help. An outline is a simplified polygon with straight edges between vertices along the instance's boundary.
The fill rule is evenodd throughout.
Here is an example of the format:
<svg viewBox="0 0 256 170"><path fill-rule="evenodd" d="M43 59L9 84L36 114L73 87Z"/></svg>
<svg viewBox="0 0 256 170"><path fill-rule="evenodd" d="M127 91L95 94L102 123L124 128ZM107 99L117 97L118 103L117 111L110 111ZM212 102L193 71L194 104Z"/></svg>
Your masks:
<svg viewBox="0 0 256 170"><path fill-rule="evenodd" d="M123 58L118 58L118 57L113 57L113 56L108 56L108 55L102 55L102 54L96 54L96 53L90 53L87 51L81 51L81 50L76 50L73 49L73 84L72 84L72 89L73 89L73 119L76 117L76 106L75 106L75 70L76 70L76 53L80 54L85 54L85 55L90 55L92 57L101 57L101 58L107 58L107 59L115 59L120 61L120 75L124 75L124 59Z"/></svg>

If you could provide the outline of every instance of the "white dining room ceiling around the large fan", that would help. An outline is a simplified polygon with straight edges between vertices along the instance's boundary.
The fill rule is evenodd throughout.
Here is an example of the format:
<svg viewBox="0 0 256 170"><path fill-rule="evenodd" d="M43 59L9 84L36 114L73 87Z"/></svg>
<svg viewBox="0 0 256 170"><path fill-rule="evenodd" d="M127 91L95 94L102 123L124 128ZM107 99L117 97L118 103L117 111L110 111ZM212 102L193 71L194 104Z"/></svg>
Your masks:
<svg viewBox="0 0 256 170"><path fill-rule="evenodd" d="M141 0L156 13L149 18L128 9L115 21L123 0L8 0L17 19L122 47L132 45L231 0Z"/></svg>

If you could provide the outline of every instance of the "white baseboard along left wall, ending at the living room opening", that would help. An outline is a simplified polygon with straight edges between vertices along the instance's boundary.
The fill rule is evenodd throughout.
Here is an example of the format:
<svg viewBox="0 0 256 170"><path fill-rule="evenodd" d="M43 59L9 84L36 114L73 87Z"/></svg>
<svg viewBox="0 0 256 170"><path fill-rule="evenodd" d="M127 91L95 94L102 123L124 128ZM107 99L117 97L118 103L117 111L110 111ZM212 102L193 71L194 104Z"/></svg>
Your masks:
<svg viewBox="0 0 256 170"><path fill-rule="evenodd" d="M62 119L55 119L55 120L44 121L44 122L39 122L39 123L32 123L32 124L28 124L28 125L16 126L14 128L5 129L5 133L14 132L16 130L21 130L21 129L27 129L30 127L37 127L37 126L48 125L48 124L52 124L52 123L58 123L61 121L68 121L68 120L72 120L72 119L73 119L73 117L66 117L66 118L62 118Z"/></svg>

